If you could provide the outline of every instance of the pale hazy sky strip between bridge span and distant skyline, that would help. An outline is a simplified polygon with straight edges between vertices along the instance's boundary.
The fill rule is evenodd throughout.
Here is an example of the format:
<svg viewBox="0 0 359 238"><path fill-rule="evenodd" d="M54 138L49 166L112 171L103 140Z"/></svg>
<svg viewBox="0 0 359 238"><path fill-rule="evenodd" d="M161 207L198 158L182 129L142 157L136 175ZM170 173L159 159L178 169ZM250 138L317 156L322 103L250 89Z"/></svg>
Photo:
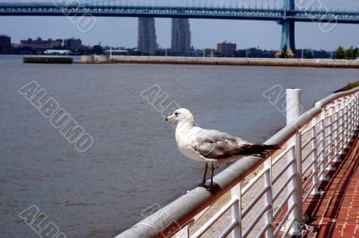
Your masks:
<svg viewBox="0 0 359 238"><path fill-rule="evenodd" d="M156 19L157 42L160 47L171 46L171 20ZM192 45L196 48L216 47L224 40L238 48L261 47L278 49L281 26L275 21L190 20ZM84 45L101 42L102 46L136 47L136 18L97 17L87 33L64 17L0 16L0 34L12 37L13 43L23 38L81 38ZM359 24L338 24L324 33L315 22L296 23L296 47L332 50L338 45L359 47Z"/></svg>

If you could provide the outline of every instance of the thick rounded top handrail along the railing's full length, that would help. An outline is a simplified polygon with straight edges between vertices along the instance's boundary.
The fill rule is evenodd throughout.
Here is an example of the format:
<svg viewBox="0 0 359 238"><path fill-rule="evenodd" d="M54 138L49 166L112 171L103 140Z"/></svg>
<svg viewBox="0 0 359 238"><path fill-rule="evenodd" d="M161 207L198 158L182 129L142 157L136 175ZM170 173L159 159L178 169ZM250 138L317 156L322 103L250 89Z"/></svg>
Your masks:
<svg viewBox="0 0 359 238"><path fill-rule="evenodd" d="M345 92L338 92L318 101L313 108L302 114L293 123L289 123L287 126L285 126L285 128L283 128L279 132L276 132L276 134L270 139L268 139L265 143L285 146L289 139L293 138L296 133L301 132L304 125L311 123L311 120L313 118L323 115L323 110L330 106L330 104L332 104L338 98L345 98L351 96L358 91L359 88L351 89ZM347 112L342 112L342 114L342 116L346 115L347 117ZM342 123L344 123L345 120L343 118L341 120ZM318 120L316 125L320 125L320 123L323 123L322 119ZM345 125L345 128L348 128L348 123L346 123ZM321 133L326 133L323 129L318 131L319 132L315 135L315 138L318 136L320 137ZM340 133L342 133L340 135L340 138L342 140L344 140L344 136L347 136L351 133L343 131L345 130L340 131ZM339 144L345 144L346 142L347 141L339 142ZM328 142L324 138L318 142L318 146L320 145L320 143L321 147L324 146L325 148L325 146L328 146ZM325 151L326 149L324 148L320 149L321 151L319 150L317 155L317 157L321 157L318 163L319 167L323 166L323 163L325 163L323 153L327 153L327 151ZM287 151L285 152L288 153L291 149L292 148L287 149ZM340 148L338 150L341 149L343 148ZM285 153L282 153L282 156L284 157ZM224 169L223 172L215 175L215 189L213 191L207 191L203 187L197 187L192 191L188 191L188 193L182 195L178 200L172 201L164 208L153 213L153 215L151 215L150 217L146 217L144 220L130 227L127 231L122 234L119 234L117 237L166 237L169 235L176 234L178 231L180 231L181 228L193 222L194 217L199 212L210 206L212 203L215 202L215 200L218 200L220 197L223 196L224 193L230 191L235 185L241 183L241 181L244 180L249 174L253 173L256 169L258 169L259 166L262 166L265 161L265 159L260 157L241 158L240 160L233 163L232 166L229 166ZM331 161L329 161L329 164L330 162ZM266 173L263 173L261 175L265 175ZM323 171L320 171L320 175L321 174L323 174ZM275 198L277 198L277 194ZM291 207L291 209L293 208L294 207ZM288 216L286 217L288 218ZM293 225L293 222L289 221L289 225ZM275 234L277 234L277 231L275 232Z"/></svg>

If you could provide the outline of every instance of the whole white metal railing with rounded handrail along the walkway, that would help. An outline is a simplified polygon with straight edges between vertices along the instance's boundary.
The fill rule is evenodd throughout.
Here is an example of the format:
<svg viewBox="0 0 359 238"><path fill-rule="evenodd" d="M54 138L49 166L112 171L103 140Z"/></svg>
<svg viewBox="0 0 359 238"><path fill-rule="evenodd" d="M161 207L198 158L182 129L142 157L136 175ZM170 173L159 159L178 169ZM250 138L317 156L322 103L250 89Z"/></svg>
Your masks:
<svg viewBox="0 0 359 238"><path fill-rule="evenodd" d="M326 171L336 169L333 163L340 162L357 132L359 89L324 98L302 115L299 98L300 90L287 90L287 126L265 142L282 146L277 155L241 158L215 176L215 191L188 191L117 237L200 237L230 210L219 237L302 234L302 203L311 195L320 196L319 181L328 180ZM199 217L227 191L230 199L194 229ZM254 196L245 204L250 191Z"/></svg>

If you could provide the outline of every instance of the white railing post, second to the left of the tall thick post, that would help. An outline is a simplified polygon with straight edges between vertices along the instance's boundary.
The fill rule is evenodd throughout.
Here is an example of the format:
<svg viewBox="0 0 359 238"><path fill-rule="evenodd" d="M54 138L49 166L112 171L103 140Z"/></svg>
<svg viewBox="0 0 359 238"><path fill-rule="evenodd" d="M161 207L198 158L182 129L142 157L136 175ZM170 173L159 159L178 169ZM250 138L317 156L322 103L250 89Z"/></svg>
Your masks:
<svg viewBox="0 0 359 238"><path fill-rule="evenodd" d="M241 238L241 183L235 185L231 190L232 200L238 200L232 206L232 222L236 222L232 232L232 238Z"/></svg>

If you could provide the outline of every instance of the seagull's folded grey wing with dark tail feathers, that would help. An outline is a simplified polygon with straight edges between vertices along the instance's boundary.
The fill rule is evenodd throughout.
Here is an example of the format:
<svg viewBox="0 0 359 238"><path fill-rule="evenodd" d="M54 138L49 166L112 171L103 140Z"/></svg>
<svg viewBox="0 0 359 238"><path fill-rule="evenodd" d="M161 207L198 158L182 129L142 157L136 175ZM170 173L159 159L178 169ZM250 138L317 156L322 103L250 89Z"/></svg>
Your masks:
<svg viewBox="0 0 359 238"><path fill-rule="evenodd" d="M272 145L248 143L224 132L202 129L197 133L197 145L194 149L202 157L226 159L250 155L266 157L267 150L277 148Z"/></svg>

